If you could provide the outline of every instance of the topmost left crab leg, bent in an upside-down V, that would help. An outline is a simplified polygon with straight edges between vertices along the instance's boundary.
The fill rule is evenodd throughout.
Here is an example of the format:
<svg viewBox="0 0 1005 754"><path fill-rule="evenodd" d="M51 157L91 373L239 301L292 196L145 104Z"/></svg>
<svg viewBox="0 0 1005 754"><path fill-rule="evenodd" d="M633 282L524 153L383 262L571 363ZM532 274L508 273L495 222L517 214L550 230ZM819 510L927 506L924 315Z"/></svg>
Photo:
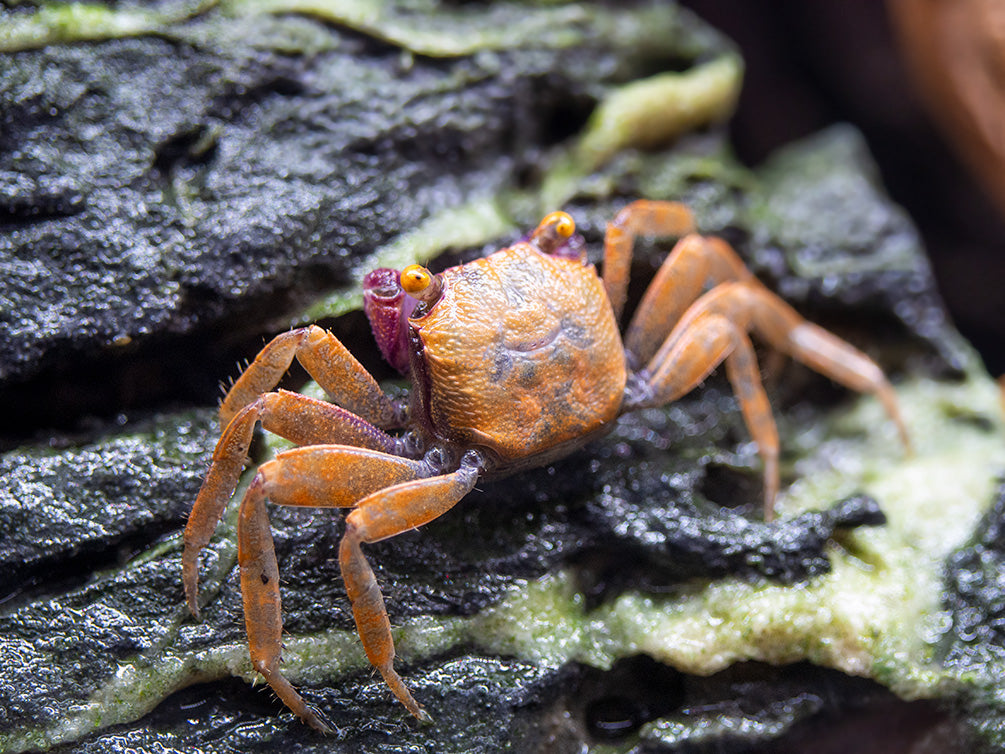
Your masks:
<svg viewBox="0 0 1005 754"><path fill-rule="evenodd" d="M395 424L394 404L377 381L338 338L317 325L268 342L224 397L220 423L226 426L244 406L272 390L294 357L336 403L379 427Z"/></svg>

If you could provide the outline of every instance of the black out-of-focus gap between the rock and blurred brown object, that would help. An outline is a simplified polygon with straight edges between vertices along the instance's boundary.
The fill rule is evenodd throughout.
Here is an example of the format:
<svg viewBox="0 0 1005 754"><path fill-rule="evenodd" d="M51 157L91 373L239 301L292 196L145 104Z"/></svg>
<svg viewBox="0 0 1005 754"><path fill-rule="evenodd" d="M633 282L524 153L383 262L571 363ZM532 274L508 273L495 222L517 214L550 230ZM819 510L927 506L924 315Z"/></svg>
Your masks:
<svg viewBox="0 0 1005 754"><path fill-rule="evenodd" d="M992 374L1005 373L1005 211L994 201L1001 194L978 180L946 132L937 129L894 39L886 3L678 2L722 29L743 53L744 88L730 123L741 160L758 165L779 147L834 123L854 124L868 141L883 184L921 230L960 331ZM943 0L939 6L953 6L947 14L959 6L964 14L976 4ZM992 6L1005 0L983 5L1000 15ZM1005 70L997 80L1005 82ZM1002 118L999 133L1005 132Z"/></svg>

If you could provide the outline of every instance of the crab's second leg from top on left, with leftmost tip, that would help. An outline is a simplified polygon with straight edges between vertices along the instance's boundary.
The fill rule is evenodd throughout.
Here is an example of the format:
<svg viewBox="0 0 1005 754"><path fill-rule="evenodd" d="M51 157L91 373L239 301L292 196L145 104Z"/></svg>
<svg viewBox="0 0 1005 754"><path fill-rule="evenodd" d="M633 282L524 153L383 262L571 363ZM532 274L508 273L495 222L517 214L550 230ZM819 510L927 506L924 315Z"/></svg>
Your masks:
<svg viewBox="0 0 1005 754"><path fill-rule="evenodd" d="M185 527L182 581L193 614L199 614L199 553L209 544L227 501L247 461L254 425L301 445L339 443L390 453L395 439L373 424L333 403L279 390L265 393L244 406L216 443L213 459L192 506Z"/></svg>

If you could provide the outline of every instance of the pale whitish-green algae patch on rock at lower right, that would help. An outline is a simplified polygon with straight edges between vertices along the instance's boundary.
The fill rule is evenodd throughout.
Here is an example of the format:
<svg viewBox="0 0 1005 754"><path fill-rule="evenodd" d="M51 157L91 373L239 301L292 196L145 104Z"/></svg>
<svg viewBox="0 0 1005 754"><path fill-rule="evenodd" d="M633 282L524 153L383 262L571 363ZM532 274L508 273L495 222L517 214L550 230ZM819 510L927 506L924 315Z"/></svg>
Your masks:
<svg viewBox="0 0 1005 754"><path fill-rule="evenodd" d="M474 619L472 636L490 651L554 664L609 668L644 652L702 676L744 661L808 659L872 678L903 698L935 694L952 678L933 657L946 620L943 561L989 505L995 475L1005 468L1005 431L985 377L960 385L918 378L898 394L913 454L888 436L876 403L862 398L826 422L839 428L836 439L806 444L794 464L807 476L783 497L783 516L849 490L873 495L889 516L887 526L835 543L830 573L795 586L691 583L672 595L624 594L587 611L565 572L515 590ZM958 420L961 408L990 424Z"/></svg>

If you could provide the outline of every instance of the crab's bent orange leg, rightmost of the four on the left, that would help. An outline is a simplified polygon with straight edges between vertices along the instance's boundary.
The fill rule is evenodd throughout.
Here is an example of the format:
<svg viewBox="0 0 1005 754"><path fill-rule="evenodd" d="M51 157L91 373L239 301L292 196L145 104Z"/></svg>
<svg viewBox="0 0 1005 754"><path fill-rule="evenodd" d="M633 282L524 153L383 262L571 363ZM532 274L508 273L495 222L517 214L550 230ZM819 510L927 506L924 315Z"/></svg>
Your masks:
<svg viewBox="0 0 1005 754"><path fill-rule="evenodd" d="M449 511L477 482L476 457L468 453L452 474L406 482L360 501L346 517L346 534L339 547L339 565L367 658L380 671L394 696L423 722L431 718L394 670L394 640L384 597L360 544L393 537Z"/></svg>

